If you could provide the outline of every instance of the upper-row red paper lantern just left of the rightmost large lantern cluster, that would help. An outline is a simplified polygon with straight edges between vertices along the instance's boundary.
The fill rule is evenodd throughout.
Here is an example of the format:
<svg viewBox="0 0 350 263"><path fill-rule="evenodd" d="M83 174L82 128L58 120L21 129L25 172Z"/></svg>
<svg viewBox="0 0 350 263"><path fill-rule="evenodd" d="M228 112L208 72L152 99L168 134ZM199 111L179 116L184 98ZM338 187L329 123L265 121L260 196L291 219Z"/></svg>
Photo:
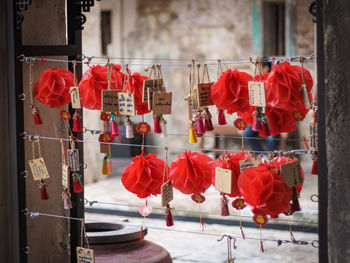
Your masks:
<svg viewBox="0 0 350 263"><path fill-rule="evenodd" d="M210 96L214 104L229 114L249 110L248 81L253 77L246 72L226 70L211 87Z"/></svg>

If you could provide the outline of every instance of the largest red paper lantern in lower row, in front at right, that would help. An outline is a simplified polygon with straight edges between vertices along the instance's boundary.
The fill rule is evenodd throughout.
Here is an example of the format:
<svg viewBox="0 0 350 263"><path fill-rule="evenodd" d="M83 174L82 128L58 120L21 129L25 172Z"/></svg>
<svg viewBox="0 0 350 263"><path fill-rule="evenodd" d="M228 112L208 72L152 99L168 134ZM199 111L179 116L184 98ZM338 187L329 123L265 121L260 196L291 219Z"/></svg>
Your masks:
<svg viewBox="0 0 350 263"><path fill-rule="evenodd" d="M283 213L292 198L292 189L267 164L244 170L238 178L238 189L256 214Z"/></svg>

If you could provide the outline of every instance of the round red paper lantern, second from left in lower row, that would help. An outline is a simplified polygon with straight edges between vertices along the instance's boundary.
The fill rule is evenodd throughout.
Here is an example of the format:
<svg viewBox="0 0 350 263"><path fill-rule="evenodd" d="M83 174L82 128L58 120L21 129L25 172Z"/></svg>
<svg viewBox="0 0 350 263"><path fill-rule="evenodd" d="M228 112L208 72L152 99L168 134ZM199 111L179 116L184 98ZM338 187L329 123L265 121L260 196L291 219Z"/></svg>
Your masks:
<svg viewBox="0 0 350 263"><path fill-rule="evenodd" d="M204 153L183 152L172 162L169 179L184 194L204 193L211 185L212 162Z"/></svg>

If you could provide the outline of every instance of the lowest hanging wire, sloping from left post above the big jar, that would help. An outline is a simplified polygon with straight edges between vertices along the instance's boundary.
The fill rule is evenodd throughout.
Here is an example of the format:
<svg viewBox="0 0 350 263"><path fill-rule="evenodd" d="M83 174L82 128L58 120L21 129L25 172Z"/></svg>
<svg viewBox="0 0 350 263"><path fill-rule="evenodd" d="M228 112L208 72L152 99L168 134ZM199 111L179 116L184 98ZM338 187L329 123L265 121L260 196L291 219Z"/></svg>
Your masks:
<svg viewBox="0 0 350 263"><path fill-rule="evenodd" d="M29 211L28 209L24 209L24 215L30 216L31 218L39 217L39 216L46 216L46 217L52 217L52 218L60 218L60 219L68 219L68 220L76 220L76 221L82 221L84 218L78 218L78 217L71 217L71 216L61 216L61 215L55 215L55 214L48 214L48 213L41 213L41 212L36 212L36 211ZM108 223L108 224L115 224L115 221L101 221L101 220L93 220L93 219L85 219L85 222L90 222L90 223ZM123 222L124 223L124 222ZM132 226L132 227L137 227L140 228L140 225L137 224L130 224L130 223L124 223L126 226ZM221 234L217 233L208 233L208 232L197 232L197 231L188 231L188 230L181 230L181 229L174 229L174 228L162 228L162 227L156 227L156 226L147 226L149 229L154 229L154 230L161 230L161 231L170 231L170 232L180 232L180 233L187 233L187 234L196 234L196 235L206 235L206 236L216 236L216 237L221 237ZM242 237L235 237L242 239ZM260 238L256 237L246 237L245 239L247 240L261 240ZM312 243L315 242L313 241L304 241L304 240L296 240L296 241L290 241L290 240L280 240L280 239L262 239L263 241L268 241L268 242L274 242L277 243L277 246L282 245L283 243L288 243L292 245L311 245Z"/></svg>

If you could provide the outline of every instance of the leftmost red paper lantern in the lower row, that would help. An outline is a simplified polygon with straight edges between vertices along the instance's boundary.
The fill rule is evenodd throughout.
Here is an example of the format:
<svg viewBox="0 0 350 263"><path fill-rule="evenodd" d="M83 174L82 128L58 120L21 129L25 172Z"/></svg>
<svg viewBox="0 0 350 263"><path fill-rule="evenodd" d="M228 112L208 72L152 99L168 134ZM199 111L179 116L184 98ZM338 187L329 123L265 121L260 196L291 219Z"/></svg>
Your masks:
<svg viewBox="0 0 350 263"><path fill-rule="evenodd" d="M132 158L122 175L124 187L139 198L160 194L163 184L164 161L153 153L144 156L142 152Z"/></svg>

